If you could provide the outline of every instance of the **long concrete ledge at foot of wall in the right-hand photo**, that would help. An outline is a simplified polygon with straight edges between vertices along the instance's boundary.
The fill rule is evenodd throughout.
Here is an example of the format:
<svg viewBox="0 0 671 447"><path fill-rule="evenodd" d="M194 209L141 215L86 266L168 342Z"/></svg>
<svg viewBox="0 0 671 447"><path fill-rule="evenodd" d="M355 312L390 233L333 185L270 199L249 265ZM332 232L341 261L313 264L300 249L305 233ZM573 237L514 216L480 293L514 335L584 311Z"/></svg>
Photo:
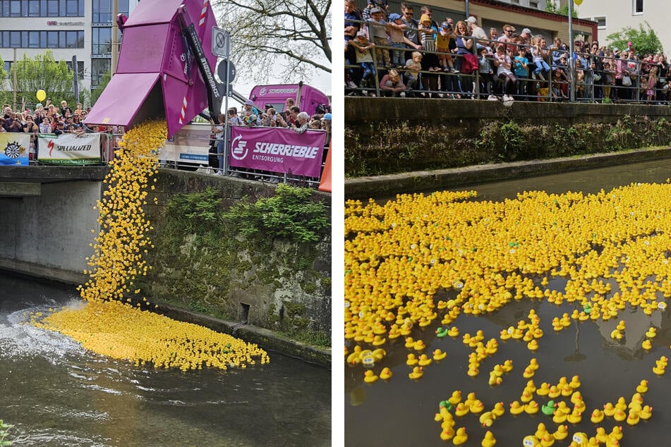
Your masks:
<svg viewBox="0 0 671 447"><path fill-rule="evenodd" d="M351 178L345 180L345 197L348 199L388 197L407 192L461 188L500 180L543 176L667 158L671 158L671 147L652 147L627 152L609 152L560 159L514 161L436 171L414 171L385 176Z"/></svg>

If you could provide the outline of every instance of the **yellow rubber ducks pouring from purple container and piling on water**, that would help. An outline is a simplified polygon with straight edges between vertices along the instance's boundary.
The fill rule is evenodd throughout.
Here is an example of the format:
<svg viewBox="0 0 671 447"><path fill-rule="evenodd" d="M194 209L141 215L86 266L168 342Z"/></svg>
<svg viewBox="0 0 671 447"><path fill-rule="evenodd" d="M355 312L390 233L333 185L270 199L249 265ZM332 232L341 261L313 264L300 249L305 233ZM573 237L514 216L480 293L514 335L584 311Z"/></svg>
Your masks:
<svg viewBox="0 0 671 447"><path fill-rule="evenodd" d="M104 179L107 190L97 202L100 230L92 244L93 255L87 259L92 269L85 271L90 280L79 288L85 302L46 316L32 315L31 322L64 333L95 353L135 365L186 371L265 364L270 357L253 343L140 310L149 307L146 299L138 307L129 298L123 301L128 294L140 292L133 280L151 269L143 259L153 247L147 238L152 226L144 207L149 190L155 188L149 183L166 138L164 121L140 123L123 135ZM377 376L367 374L365 379L372 383Z"/></svg>

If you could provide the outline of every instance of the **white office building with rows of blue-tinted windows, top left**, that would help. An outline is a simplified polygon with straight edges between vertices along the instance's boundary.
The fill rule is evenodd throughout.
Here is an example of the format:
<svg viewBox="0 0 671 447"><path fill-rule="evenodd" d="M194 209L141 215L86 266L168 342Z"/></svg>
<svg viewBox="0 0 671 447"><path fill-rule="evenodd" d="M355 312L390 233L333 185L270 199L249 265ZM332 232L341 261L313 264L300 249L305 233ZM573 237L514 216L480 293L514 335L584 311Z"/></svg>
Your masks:
<svg viewBox="0 0 671 447"><path fill-rule="evenodd" d="M111 64L113 1L128 15L139 0L0 0L0 56L9 73L13 61L49 49L95 88ZM16 58L16 59L15 59Z"/></svg>

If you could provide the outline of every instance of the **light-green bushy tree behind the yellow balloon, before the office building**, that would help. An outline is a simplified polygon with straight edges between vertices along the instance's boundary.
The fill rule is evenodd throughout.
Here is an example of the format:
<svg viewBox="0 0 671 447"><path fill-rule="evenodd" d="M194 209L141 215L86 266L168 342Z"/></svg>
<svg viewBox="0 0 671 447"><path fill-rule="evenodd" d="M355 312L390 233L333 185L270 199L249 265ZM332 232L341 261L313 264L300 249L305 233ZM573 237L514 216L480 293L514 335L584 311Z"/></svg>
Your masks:
<svg viewBox="0 0 671 447"><path fill-rule="evenodd" d="M65 61L54 60L51 50L37 54L35 58L23 55L23 59L13 63L10 69L10 77L16 73L16 92L19 97L35 98L37 90L47 92L47 97L52 102L60 102L61 99L74 102L72 92L73 72L68 68Z"/></svg>

